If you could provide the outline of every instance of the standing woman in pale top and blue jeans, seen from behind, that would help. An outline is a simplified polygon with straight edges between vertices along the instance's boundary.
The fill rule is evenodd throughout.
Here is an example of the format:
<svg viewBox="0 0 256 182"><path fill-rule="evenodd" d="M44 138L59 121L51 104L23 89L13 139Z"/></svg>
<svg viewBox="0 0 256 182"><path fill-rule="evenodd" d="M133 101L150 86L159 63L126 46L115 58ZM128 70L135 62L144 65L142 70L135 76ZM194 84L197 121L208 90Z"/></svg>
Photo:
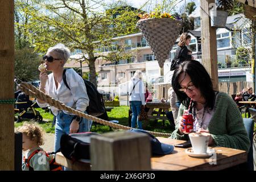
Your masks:
<svg viewBox="0 0 256 182"><path fill-rule="evenodd" d="M139 129L142 129L142 121L138 120L141 113L141 107L145 105L144 84L142 81L142 72L136 71L129 82L129 101L131 105L131 127L135 128L136 122ZM144 109L144 108L143 108Z"/></svg>

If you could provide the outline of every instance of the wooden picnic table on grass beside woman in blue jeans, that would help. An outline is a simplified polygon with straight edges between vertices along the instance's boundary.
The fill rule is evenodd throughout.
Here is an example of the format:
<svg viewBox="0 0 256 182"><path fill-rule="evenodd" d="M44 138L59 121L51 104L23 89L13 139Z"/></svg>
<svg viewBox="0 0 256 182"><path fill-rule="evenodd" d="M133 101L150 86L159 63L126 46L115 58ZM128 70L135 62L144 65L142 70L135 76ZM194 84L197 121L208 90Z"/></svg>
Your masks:
<svg viewBox="0 0 256 182"><path fill-rule="evenodd" d="M165 112L169 111L169 108L171 107L169 102L146 102L146 107L149 108L149 110L147 112L147 120L144 121L143 123L143 128L145 128L148 125L148 122L150 119L163 119L163 120L168 119L165 115L161 116L161 114L162 114L162 111L165 111ZM156 113L153 113L154 109L159 109L159 110L156 111Z"/></svg>

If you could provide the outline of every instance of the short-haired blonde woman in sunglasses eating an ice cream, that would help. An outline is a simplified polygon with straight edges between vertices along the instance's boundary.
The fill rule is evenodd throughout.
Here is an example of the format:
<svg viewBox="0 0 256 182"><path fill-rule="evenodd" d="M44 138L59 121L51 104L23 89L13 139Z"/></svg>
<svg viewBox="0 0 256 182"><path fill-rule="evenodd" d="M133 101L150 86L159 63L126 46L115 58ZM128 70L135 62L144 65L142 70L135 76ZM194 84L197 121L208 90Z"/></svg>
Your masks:
<svg viewBox="0 0 256 182"><path fill-rule="evenodd" d="M86 92L84 80L75 70L67 69L65 76L69 88L63 81L64 65L69 59L70 51L63 44L57 44L48 49L43 60L46 64L46 71L40 73L39 89L54 98L63 102L73 109L86 113L86 107L89 105L89 98ZM47 71L52 73L47 75ZM42 100L36 100L40 107L47 107L48 104ZM59 110L51 106L52 113L56 116L55 123L55 143L54 151L60 149L60 138L63 134L90 131L92 121L81 118L78 115L68 113L68 111Z"/></svg>

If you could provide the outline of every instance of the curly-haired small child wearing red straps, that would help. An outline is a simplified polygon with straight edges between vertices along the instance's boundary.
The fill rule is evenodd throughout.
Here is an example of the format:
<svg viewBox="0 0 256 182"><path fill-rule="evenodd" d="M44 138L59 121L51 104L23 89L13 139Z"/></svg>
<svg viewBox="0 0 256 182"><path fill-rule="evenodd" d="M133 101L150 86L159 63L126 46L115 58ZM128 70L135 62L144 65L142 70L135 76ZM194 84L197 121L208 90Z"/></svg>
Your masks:
<svg viewBox="0 0 256 182"><path fill-rule="evenodd" d="M17 131L22 133L22 150L27 151L23 158L23 171L49 171L50 158L43 150L43 130L36 123L25 122Z"/></svg>

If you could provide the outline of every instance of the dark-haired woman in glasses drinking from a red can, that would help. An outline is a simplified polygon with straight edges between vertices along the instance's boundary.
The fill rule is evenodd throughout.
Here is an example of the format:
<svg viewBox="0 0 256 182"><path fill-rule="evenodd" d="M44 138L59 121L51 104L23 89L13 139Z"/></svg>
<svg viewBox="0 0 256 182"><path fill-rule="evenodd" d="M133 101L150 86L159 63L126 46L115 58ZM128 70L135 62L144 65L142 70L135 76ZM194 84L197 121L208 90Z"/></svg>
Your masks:
<svg viewBox="0 0 256 182"><path fill-rule="evenodd" d="M209 145L249 151L250 140L236 103L228 94L213 89L203 65L198 61L181 63L172 77L172 86L181 105L171 138L188 140L188 134L183 133L182 115L192 104L194 131L210 133Z"/></svg>

